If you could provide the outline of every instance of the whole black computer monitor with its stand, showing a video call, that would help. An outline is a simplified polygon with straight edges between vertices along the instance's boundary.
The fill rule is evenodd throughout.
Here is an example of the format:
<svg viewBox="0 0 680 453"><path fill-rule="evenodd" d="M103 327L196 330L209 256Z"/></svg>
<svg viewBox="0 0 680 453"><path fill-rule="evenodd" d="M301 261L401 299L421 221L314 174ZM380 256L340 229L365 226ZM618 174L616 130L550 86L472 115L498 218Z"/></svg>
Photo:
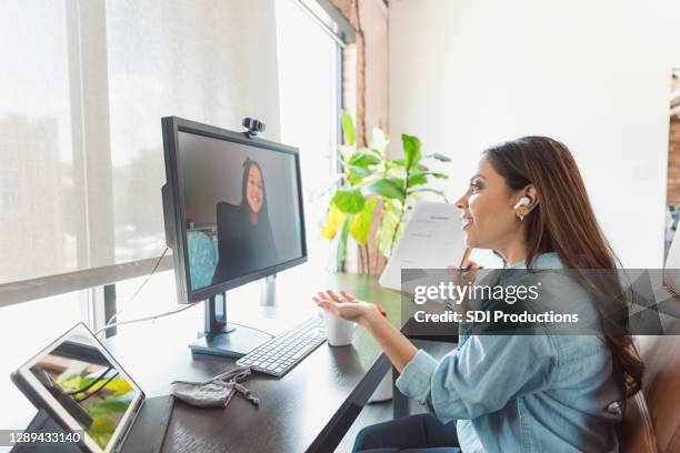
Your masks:
<svg viewBox="0 0 680 453"><path fill-rule="evenodd" d="M191 348L242 355L267 336L227 324L226 291L307 261L298 150L176 117L161 124L178 301L206 301Z"/></svg>

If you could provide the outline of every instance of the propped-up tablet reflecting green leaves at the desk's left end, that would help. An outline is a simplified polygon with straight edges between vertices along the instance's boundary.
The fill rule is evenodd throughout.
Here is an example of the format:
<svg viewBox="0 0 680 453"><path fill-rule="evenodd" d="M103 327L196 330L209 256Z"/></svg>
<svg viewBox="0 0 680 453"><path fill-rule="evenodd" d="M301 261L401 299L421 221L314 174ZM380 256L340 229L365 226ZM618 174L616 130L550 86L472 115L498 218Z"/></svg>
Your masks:
<svg viewBox="0 0 680 453"><path fill-rule="evenodd" d="M27 363L26 381L92 451L111 451L142 396L101 343L79 324ZM89 437L89 439L87 439Z"/></svg>

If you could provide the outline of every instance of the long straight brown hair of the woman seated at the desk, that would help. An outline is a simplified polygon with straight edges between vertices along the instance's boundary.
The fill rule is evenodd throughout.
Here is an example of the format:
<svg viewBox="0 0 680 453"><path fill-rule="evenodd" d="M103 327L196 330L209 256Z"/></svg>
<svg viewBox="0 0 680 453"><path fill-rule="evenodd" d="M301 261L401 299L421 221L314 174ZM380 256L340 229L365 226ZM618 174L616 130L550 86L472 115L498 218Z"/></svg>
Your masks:
<svg viewBox="0 0 680 453"><path fill-rule="evenodd" d="M510 190L518 191L529 184L536 188L539 203L523 221L527 224L527 268L531 268L540 253L557 252L568 269L578 270L577 275L591 294L599 292L594 294L596 305L611 298L607 294L599 298L603 290L601 280L596 282L598 272L583 270L612 270L606 288L621 294L613 271L618 259L600 230L569 149L547 137L524 137L492 147L483 155ZM600 313L611 310L599 305ZM606 334L604 339L611 350L618 384L627 397L631 396L641 387L644 369L636 344L626 326L617 334Z"/></svg>

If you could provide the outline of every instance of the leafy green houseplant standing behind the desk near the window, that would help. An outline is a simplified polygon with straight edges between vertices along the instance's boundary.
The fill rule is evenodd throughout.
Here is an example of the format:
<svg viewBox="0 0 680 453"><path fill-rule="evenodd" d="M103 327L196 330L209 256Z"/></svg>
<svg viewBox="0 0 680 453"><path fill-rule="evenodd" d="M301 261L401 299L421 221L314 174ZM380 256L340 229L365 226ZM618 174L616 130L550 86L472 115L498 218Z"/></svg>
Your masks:
<svg viewBox="0 0 680 453"><path fill-rule="evenodd" d="M338 269L347 258L349 236L366 248L373 224L378 252L389 259L403 233L407 212L423 193L448 201L441 190L428 185L430 178L447 179L448 175L430 171L427 161L451 161L440 153L422 155L420 140L406 133L401 134L403 158L389 159L390 137L377 128L370 145L358 148L352 118L343 111L341 121L344 144L340 147L339 187L330 200L321 230L329 240L340 235L336 251ZM382 209L378 210L378 205ZM377 215L380 219L374 219Z"/></svg>

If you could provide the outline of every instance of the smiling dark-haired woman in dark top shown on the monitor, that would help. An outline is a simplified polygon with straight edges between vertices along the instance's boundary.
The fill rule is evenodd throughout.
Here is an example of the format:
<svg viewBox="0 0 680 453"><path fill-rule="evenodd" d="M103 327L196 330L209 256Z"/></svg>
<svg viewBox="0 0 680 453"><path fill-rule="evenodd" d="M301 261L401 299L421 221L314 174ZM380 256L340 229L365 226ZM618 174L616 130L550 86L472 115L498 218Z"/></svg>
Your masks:
<svg viewBox="0 0 680 453"><path fill-rule="evenodd" d="M262 169L251 159L243 162L241 204L219 202L218 264L212 283L224 282L268 268L277 261Z"/></svg>

